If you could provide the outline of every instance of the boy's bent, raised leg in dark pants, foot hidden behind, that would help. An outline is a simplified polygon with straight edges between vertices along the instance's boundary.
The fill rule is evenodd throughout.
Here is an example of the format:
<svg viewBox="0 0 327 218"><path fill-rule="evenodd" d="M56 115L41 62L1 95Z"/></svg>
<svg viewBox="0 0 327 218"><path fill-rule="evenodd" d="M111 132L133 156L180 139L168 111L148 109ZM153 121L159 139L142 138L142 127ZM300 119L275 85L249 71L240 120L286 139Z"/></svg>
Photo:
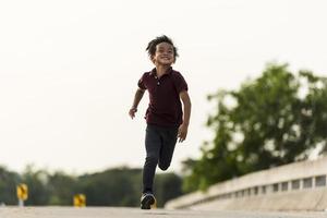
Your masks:
<svg viewBox="0 0 327 218"><path fill-rule="evenodd" d="M167 170L170 166L177 143L178 128L169 128L162 134L162 146L159 153L159 168Z"/></svg>

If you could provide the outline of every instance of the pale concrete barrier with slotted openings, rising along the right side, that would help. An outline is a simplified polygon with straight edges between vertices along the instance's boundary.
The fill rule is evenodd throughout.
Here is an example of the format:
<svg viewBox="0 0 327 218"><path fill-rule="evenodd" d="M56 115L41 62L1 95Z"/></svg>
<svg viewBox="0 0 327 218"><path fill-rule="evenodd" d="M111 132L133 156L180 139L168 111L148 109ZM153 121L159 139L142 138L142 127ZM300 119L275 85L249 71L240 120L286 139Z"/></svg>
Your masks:
<svg viewBox="0 0 327 218"><path fill-rule="evenodd" d="M326 210L327 157L250 173L166 204L209 210Z"/></svg>

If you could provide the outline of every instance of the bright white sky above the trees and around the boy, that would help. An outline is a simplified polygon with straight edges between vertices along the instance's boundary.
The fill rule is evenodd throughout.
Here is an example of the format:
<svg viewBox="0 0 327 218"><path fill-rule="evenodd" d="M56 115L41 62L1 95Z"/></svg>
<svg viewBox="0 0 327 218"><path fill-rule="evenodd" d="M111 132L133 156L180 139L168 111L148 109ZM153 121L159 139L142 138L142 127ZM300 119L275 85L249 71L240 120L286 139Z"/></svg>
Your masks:
<svg viewBox="0 0 327 218"><path fill-rule="evenodd" d="M270 61L327 76L325 0L0 1L0 165L83 173L142 167L147 96L128 117L145 52L166 34L190 86L187 140L171 170L210 138L206 96Z"/></svg>

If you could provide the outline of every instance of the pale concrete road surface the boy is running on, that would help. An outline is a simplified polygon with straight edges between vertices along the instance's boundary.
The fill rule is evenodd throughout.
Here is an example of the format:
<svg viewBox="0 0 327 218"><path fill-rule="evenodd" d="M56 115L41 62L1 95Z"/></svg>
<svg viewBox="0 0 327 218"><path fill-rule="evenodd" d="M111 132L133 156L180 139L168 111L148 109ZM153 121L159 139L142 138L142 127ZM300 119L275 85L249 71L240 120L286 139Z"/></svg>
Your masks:
<svg viewBox="0 0 327 218"><path fill-rule="evenodd" d="M327 213L141 210L125 207L0 207L0 218L327 218Z"/></svg>

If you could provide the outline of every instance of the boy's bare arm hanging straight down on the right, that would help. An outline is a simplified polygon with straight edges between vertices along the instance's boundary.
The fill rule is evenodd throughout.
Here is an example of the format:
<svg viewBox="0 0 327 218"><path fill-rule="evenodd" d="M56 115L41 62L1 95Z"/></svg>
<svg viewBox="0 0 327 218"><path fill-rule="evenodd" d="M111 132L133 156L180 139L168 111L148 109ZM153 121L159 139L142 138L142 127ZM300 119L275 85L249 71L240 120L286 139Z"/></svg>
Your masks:
<svg viewBox="0 0 327 218"><path fill-rule="evenodd" d="M179 142L183 142L187 135L187 128L189 128L190 117L191 117L191 99L187 90L181 92L180 98L182 99L184 106L184 111L183 111L184 117L183 117L183 123L179 128L178 137L180 138Z"/></svg>

